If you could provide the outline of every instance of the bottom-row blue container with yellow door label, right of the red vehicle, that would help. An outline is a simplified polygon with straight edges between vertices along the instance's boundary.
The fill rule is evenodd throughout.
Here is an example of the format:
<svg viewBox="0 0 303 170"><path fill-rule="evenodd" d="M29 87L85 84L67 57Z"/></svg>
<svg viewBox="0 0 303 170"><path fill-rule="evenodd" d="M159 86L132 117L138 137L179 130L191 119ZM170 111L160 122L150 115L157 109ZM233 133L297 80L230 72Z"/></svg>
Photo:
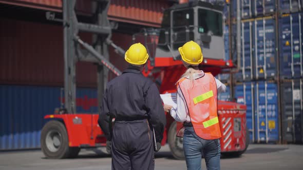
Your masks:
<svg viewBox="0 0 303 170"><path fill-rule="evenodd" d="M252 142L279 141L277 84L268 81L244 82L235 87L239 103L247 104L247 124Z"/></svg>

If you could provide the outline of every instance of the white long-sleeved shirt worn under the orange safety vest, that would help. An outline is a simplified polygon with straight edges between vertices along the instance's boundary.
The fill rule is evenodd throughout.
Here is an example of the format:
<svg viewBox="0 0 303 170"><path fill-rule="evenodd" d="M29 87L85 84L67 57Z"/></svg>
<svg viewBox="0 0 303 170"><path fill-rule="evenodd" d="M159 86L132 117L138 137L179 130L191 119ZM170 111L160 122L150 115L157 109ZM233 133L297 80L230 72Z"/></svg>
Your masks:
<svg viewBox="0 0 303 170"><path fill-rule="evenodd" d="M204 72L201 70L201 73L194 73L194 78L200 78L202 76L204 76ZM226 86L225 84L223 84L220 80L216 79L216 83L217 83L217 89L218 89L218 93L220 92L225 92L226 90ZM187 105L184 99L184 96L180 90L180 88L177 89L177 107L173 107L171 109L171 116L179 122L191 122L189 113L188 113L188 109L187 109Z"/></svg>

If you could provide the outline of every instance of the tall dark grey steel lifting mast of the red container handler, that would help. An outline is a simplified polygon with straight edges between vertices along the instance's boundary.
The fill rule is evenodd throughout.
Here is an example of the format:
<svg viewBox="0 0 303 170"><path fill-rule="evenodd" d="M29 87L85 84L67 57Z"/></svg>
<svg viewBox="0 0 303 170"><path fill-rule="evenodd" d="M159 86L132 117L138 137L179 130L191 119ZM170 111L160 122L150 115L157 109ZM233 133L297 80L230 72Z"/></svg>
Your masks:
<svg viewBox="0 0 303 170"><path fill-rule="evenodd" d="M120 75L118 70L109 62L108 45L115 48L119 54L124 54L124 50L117 47L110 40L111 27L107 18L107 11L110 0L94 1L94 10L97 20L96 24L86 24L78 22L74 7L77 0L63 0L63 27L64 27L64 97L67 113L77 113L76 110L76 80L75 64L78 61L88 61L98 63L98 105L100 108L103 91L108 79L108 71L115 75ZM55 20L52 18L52 20ZM57 19L58 20L58 19ZM90 32L94 35L97 45L93 48L83 41L79 36L79 31ZM81 49L81 47L83 49ZM105 66L105 67L104 67Z"/></svg>

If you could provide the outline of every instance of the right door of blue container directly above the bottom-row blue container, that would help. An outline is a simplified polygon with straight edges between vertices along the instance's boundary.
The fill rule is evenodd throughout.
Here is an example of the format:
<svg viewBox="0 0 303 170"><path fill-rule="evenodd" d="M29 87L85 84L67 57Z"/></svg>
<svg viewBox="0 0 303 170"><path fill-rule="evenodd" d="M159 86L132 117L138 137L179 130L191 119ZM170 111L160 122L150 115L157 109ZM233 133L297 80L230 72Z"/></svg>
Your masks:
<svg viewBox="0 0 303 170"><path fill-rule="evenodd" d="M258 18L254 23L255 79L273 79L276 76L275 20Z"/></svg>

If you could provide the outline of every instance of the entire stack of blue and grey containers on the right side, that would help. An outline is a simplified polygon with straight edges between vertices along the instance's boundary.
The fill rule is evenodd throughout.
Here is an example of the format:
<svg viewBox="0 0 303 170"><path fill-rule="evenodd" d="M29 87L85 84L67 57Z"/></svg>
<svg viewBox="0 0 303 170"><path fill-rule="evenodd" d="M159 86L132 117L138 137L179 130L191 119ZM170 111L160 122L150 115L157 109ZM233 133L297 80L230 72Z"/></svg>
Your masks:
<svg viewBox="0 0 303 170"><path fill-rule="evenodd" d="M241 66L232 89L248 106L252 142L303 142L302 1L277 3L241 1Z"/></svg>

